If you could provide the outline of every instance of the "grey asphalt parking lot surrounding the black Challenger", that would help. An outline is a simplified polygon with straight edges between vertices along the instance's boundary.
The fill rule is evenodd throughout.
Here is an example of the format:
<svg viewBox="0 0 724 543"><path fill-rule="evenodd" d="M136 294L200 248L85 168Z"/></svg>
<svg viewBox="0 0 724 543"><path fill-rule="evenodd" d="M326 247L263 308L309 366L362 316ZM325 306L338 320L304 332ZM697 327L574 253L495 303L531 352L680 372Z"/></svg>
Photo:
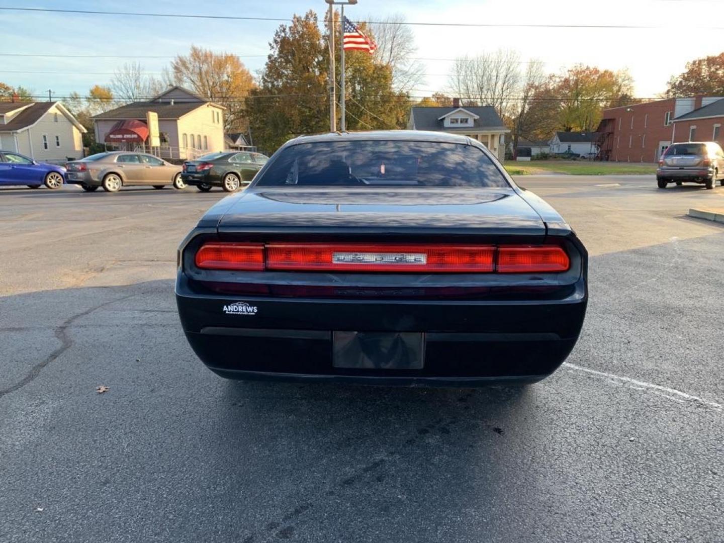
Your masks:
<svg viewBox="0 0 724 543"><path fill-rule="evenodd" d="M724 187L518 181L591 254L523 390L224 381L173 296L224 193L0 189L0 542L724 541Z"/></svg>

